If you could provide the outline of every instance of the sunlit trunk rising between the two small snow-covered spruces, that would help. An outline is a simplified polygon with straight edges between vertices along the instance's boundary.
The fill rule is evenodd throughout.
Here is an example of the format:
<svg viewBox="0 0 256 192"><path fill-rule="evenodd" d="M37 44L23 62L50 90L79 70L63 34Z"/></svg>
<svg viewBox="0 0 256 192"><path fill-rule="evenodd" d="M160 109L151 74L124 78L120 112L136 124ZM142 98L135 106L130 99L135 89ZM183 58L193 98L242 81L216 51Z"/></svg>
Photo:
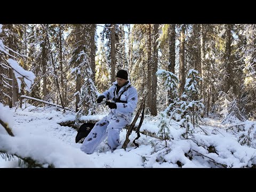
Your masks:
<svg viewBox="0 0 256 192"><path fill-rule="evenodd" d="M185 86L185 27L182 26L180 32L180 96L184 92Z"/></svg>

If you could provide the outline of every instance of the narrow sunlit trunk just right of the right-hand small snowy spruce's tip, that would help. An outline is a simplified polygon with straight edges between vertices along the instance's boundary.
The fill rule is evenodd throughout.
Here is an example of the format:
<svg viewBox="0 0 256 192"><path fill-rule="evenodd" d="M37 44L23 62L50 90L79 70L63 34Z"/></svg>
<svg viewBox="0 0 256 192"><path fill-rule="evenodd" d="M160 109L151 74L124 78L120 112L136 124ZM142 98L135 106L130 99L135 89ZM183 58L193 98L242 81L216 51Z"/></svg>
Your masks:
<svg viewBox="0 0 256 192"><path fill-rule="evenodd" d="M203 30L203 25L200 25L200 50L201 50L201 65L199 65L199 76L204 78L204 30ZM203 102L205 103L205 94L204 94L204 82L202 81L200 83L200 93L201 93L201 98L203 98ZM204 117L204 109L201 111L201 117Z"/></svg>

